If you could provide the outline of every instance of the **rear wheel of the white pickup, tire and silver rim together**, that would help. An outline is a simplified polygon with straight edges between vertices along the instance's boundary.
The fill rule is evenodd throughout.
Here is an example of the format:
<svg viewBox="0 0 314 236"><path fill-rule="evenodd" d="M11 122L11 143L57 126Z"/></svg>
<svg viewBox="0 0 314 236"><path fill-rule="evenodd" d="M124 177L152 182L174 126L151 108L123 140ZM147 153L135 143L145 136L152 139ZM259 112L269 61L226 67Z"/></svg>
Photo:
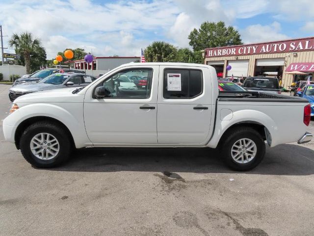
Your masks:
<svg viewBox="0 0 314 236"><path fill-rule="evenodd" d="M224 139L220 145L222 159L235 171L252 170L265 155L265 142L253 128L234 128Z"/></svg>

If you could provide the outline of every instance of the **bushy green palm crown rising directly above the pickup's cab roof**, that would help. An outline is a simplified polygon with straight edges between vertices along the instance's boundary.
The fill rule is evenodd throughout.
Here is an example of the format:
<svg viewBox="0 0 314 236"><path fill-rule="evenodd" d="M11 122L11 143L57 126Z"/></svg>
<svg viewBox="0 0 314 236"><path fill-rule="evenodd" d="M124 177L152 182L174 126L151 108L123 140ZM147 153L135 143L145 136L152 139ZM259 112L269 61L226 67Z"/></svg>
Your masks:
<svg viewBox="0 0 314 236"><path fill-rule="evenodd" d="M144 55L147 62L175 61L177 48L163 41L155 41L144 50Z"/></svg>

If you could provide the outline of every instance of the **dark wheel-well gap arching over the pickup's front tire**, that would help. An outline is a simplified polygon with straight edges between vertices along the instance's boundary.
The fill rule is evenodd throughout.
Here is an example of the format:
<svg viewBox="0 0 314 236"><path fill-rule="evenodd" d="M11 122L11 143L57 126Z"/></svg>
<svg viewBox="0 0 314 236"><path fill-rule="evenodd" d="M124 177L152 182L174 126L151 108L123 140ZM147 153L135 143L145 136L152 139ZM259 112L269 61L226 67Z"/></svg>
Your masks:
<svg viewBox="0 0 314 236"><path fill-rule="evenodd" d="M71 146L75 147L75 142L74 142L74 138L72 136L72 133L70 132L69 128L62 123L60 120L52 118L52 117L45 117L45 116L36 116L36 117L30 117L27 118L25 120L23 120L18 127L16 128L15 134L14 134L14 141L15 141L15 146L17 149L20 149L20 140L21 140L21 136L23 134L23 132L26 130L26 128L38 121L50 121L52 123L55 123L57 125L59 125L60 127L62 127L66 134L68 135L68 137L70 138L70 142L71 142Z"/></svg>

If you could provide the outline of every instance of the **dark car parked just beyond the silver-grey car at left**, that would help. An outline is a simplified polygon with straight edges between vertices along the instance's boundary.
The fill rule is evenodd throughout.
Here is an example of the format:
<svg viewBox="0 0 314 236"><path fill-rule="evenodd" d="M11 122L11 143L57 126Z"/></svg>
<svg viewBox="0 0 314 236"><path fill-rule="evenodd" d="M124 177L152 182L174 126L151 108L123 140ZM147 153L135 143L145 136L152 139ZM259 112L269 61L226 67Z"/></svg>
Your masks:
<svg viewBox="0 0 314 236"><path fill-rule="evenodd" d="M80 73L80 74L85 74L84 71L80 70L74 70L74 69L63 69L64 72L74 72L74 73ZM35 73L31 74L29 77L22 77L20 79L17 79L12 87L16 85L21 85L21 84L28 84L28 83L34 83L34 82L39 82L42 79L46 78L47 76L50 76L55 73L59 73L60 69L58 68L47 68L44 70L39 70L36 71Z"/></svg>

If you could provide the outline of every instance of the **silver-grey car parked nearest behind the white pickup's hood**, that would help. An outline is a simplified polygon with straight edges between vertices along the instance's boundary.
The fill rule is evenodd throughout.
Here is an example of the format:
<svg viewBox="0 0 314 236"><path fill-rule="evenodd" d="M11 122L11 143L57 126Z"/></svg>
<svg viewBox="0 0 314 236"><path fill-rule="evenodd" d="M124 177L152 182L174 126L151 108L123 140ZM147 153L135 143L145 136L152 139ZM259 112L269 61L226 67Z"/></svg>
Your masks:
<svg viewBox="0 0 314 236"><path fill-rule="evenodd" d="M96 80L95 77L90 75L83 75L81 73L56 73L52 74L38 83L17 85L9 89L9 98L13 102L17 97L31 92L62 89L69 86L86 86Z"/></svg>

